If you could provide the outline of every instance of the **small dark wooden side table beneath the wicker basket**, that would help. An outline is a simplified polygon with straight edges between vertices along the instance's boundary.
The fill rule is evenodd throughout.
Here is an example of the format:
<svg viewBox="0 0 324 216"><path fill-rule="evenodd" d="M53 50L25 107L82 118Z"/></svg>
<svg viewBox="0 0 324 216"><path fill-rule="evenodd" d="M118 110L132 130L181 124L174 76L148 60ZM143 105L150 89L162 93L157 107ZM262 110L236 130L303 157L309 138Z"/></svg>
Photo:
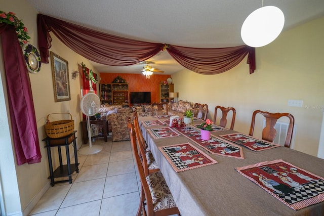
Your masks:
<svg viewBox="0 0 324 216"><path fill-rule="evenodd" d="M50 177L51 179L51 185L54 186L55 183L61 183L61 182L69 182L70 184L72 183L72 173L76 171L77 173L79 172L78 165L79 163L77 162L77 150L76 150L76 137L75 137L76 131L73 131L72 134L67 135L66 137L62 138L45 138L43 141L46 142L45 148L47 148L47 156L49 159L49 167L50 167ZM73 143L73 149L74 149L74 158L75 158L75 163L70 162L70 152L69 152L69 145ZM61 154L61 147L65 146L65 151L66 151L66 161L67 164L63 165L62 163L62 154ZM52 154L51 154L51 148L52 147L57 147L58 153L59 153L59 161L60 165L53 171L53 164L52 164ZM68 176L68 180L61 180L61 181L54 181L54 178L59 178L59 177L65 177Z"/></svg>

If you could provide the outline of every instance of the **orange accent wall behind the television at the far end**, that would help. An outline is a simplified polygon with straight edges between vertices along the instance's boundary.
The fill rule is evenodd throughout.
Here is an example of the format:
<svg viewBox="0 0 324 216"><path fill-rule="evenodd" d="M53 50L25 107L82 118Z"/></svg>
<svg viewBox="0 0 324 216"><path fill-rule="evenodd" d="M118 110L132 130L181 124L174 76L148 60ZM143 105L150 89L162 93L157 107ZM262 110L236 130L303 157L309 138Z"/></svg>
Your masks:
<svg viewBox="0 0 324 216"><path fill-rule="evenodd" d="M171 75L153 74L149 79L143 74L134 73L100 73L100 83L111 83L117 76L128 82L130 92L151 92L151 102L158 100L158 85Z"/></svg>

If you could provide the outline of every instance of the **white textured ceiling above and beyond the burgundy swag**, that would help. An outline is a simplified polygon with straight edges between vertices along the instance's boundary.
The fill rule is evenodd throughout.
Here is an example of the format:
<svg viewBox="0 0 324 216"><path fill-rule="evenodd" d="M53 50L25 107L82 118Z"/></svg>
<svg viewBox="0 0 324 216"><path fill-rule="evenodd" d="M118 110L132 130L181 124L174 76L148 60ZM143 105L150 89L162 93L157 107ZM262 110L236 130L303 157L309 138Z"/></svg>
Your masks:
<svg viewBox="0 0 324 216"><path fill-rule="evenodd" d="M262 0L27 0L39 13L110 34L184 47L243 45L240 28ZM284 30L324 16L323 0L265 0L285 14ZM183 69L167 52L148 61L165 74ZM145 64L111 67L100 72L140 73Z"/></svg>

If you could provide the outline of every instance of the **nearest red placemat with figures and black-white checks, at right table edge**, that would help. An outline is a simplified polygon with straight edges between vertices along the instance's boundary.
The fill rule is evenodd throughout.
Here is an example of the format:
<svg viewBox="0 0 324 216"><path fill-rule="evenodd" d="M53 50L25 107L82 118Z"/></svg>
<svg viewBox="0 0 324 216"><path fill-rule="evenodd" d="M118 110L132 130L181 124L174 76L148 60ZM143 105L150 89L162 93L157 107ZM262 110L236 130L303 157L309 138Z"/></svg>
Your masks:
<svg viewBox="0 0 324 216"><path fill-rule="evenodd" d="M284 160L263 161L235 169L294 210L324 201L324 178Z"/></svg>

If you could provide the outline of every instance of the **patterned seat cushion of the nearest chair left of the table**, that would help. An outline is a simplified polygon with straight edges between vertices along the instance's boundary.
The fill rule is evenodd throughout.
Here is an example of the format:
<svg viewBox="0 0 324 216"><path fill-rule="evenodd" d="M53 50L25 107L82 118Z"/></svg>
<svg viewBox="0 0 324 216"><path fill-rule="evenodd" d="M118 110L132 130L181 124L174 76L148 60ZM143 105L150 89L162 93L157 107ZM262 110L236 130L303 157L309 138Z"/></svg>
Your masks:
<svg viewBox="0 0 324 216"><path fill-rule="evenodd" d="M152 174L148 175L146 177L146 182L151 192L154 211L177 206L160 171L153 172Z"/></svg>

